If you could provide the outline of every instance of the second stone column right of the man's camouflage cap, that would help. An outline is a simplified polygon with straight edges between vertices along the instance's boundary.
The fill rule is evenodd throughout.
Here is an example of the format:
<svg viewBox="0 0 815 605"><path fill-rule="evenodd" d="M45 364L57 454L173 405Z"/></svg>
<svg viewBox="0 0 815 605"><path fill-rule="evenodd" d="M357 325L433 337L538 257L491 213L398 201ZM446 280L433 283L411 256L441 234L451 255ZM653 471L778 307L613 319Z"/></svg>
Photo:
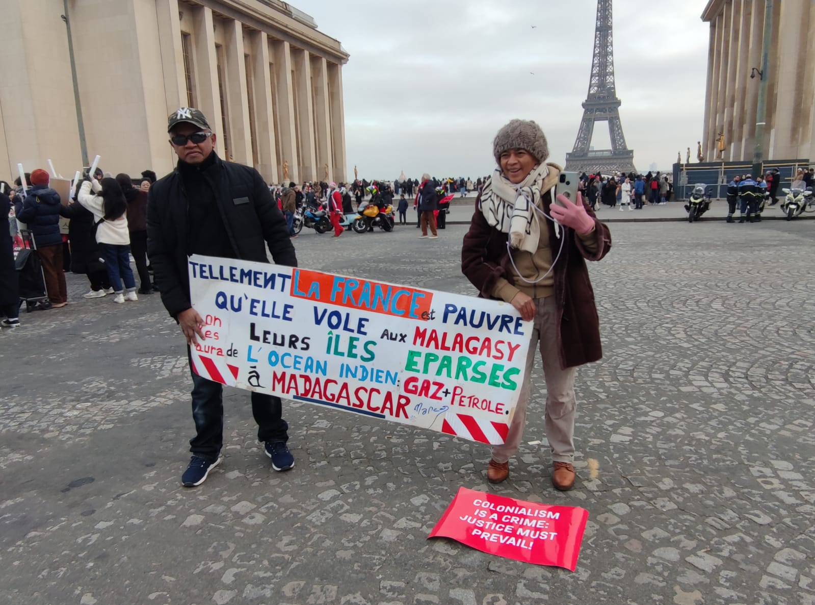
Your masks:
<svg viewBox="0 0 815 605"><path fill-rule="evenodd" d="M249 98L246 92L246 64L244 61L244 32L240 21L224 20L226 31L224 38L224 55L227 64L224 65L223 82L227 102L227 117L229 119L229 152L232 161L246 166L253 166L252 139L249 129Z"/></svg>

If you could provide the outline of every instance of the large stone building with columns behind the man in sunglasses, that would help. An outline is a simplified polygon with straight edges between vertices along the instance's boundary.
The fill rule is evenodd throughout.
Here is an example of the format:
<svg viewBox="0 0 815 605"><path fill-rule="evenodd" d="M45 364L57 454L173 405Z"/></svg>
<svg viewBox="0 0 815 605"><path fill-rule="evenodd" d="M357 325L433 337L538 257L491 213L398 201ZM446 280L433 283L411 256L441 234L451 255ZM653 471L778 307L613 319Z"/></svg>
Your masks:
<svg viewBox="0 0 815 605"><path fill-rule="evenodd" d="M63 2L4 0L0 179L81 166ZM269 183L346 179L340 42L279 0L68 0L90 158L166 174L170 112L200 108L221 157Z"/></svg>

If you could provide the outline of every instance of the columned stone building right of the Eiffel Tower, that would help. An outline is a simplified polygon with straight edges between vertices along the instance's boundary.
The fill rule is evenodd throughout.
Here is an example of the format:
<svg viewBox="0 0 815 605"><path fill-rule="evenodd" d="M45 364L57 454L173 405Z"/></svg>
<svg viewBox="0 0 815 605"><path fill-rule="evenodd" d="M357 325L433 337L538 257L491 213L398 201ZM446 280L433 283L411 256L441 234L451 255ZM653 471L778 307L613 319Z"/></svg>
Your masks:
<svg viewBox="0 0 815 605"><path fill-rule="evenodd" d="M703 154L751 161L756 146L756 105L761 76L765 0L710 0ZM815 2L775 0L768 79L764 158L815 158ZM756 71L753 70L756 68ZM753 77L751 77L753 75Z"/></svg>

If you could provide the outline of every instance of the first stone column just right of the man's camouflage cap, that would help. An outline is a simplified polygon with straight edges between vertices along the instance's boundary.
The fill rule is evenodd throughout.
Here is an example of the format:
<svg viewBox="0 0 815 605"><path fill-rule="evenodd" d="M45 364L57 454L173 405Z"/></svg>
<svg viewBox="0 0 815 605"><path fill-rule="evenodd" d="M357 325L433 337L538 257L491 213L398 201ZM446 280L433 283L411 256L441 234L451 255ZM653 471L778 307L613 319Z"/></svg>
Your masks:
<svg viewBox="0 0 815 605"><path fill-rule="evenodd" d="M218 59L215 56L215 36L212 28L212 9L193 9L192 24L195 44L196 96L198 108L204 112L214 132L218 132L221 119L221 97L218 94ZM223 157L223 143L216 136L215 151Z"/></svg>

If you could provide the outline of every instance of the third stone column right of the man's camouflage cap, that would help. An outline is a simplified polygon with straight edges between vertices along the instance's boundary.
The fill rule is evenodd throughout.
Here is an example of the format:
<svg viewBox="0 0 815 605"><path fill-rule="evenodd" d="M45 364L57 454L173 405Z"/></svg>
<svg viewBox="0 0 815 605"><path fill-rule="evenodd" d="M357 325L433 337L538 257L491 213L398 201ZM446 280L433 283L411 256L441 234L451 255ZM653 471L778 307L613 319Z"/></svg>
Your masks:
<svg viewBox="0 0 815 605"><path fill-rule="evenodd" d="M249 34L252 48L255 108L255 136L258 144L258 172L267 183L278 183L275 152L275 117L271 107L271 74L269 73L269 38L266 32Z"/></svg>

